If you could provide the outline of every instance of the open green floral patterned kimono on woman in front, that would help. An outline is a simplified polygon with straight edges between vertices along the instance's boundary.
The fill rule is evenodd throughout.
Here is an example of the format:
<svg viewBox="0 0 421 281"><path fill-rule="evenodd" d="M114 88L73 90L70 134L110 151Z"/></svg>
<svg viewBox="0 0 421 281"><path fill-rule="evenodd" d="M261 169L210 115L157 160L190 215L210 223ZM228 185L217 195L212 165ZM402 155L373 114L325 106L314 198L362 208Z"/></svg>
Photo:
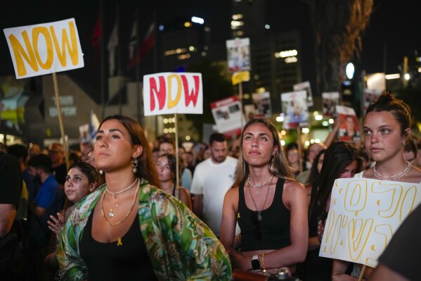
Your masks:
<svg viewBox="0 0 421 281"><path fill-rule="evenodd" d="M105 185L77 204L65 223L57 258L61 280L86 280L79 242ZM210 228L175 197L142 179L138 220L158 280L231 280L231 263Z"/></svg>

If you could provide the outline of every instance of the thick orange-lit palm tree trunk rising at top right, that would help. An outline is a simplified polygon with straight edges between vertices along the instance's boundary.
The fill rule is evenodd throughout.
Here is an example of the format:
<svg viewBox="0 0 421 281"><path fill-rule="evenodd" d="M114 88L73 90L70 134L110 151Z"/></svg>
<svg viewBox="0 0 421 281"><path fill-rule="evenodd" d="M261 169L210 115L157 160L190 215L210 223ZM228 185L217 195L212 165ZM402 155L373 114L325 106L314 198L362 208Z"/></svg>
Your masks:
<svg viewBox="0 0 421 281"><path fill-rule="evenodd" d="M339 91L345 65L361 51L361 35L370 20L373 0L313 0L316 36L316 88Z"/></svg>

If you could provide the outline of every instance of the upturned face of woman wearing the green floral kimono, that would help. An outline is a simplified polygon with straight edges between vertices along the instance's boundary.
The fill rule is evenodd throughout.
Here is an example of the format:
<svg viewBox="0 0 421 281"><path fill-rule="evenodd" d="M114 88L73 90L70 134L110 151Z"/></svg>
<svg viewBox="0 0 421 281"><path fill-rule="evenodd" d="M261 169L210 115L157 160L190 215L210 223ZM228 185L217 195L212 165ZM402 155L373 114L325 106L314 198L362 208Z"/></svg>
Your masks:
<svg viewBox="0 0 421 281"><path fill-rule="evenodd" d="M96 134L95 165L105 173L123 168L131 169L131 160L142 154L141 145L131 144L129 131L119 122L110 119L101 125Z"/></svg>

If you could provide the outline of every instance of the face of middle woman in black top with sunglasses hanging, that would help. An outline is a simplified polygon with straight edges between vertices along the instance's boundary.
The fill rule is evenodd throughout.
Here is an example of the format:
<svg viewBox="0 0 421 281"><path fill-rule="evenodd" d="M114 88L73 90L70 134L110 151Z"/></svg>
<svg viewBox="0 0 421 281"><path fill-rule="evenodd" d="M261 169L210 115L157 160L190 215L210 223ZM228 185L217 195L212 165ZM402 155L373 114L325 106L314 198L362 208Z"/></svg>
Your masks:
<svg viewBox="0 0 421 281"><path fill-rule="evenodd" d="M271 131L262 123L254 123L242 134L242 155L250 166L264 166L271 161L278 146L273 146Z"/></svg>

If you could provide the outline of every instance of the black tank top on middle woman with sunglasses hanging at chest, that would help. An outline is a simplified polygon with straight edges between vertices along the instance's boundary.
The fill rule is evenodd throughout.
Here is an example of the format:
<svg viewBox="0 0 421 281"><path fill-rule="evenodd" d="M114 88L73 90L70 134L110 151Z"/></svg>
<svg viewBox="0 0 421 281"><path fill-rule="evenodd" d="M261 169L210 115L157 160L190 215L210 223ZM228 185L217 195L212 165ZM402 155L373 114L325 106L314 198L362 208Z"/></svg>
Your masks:
<svg viewBox="0 0 421 281"><path fill-rule="evenodd" d="M276 182L275 195L271 206L261 211L259 227L261 230L261 242L254 239L253 225L250 216L252 210L247 208L244 196L244 182L238 192L237 220L241 229L241 251L257 251L268 249L282 249L291 244L290 241L290 211L282 201L283 185L285 180L278 179Z"/></svg>

